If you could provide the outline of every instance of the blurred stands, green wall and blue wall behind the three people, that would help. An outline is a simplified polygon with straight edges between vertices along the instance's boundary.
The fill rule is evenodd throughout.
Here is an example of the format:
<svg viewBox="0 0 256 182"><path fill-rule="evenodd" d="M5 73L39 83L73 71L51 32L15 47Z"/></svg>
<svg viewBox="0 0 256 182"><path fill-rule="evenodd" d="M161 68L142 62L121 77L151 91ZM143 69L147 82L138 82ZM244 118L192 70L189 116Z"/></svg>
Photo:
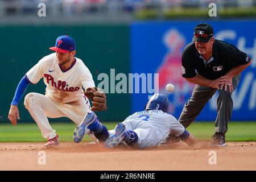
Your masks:
<svg viewBox="0 0 256 182"><path fill-rule="evenodd" d="M217 16L210 17L208 5L212 2L217 5ZM42 8L39 3L46 5L46 16L38 16ZM109 109L97 113L102 121L122 121L134 111L143 110L152 95L148 73L159 73L159 92L168 95L169 113L179 118L193 89L181 77L181 52L191 42L193 28L201 22L212 24L217 39L234 44L252 57L253 64L243 72L233 94L232 121L256 121L256 0L0 0L0 122L10 125L8 112L20 78L51 53L48 47L55 44L57 36L66 34L76 40L77 57L85 61L96 85L101 82L101 73L109 75L115 85L120 81L115 77L118 73L146 74L144 93L142 88L140 93L127 93L128 85L122 87L123 93L109 90ZM115 69L114 77L110 76L110 69ZM172 94L164 90L170 82L176 87ZM43 81L30 85L28 92L43 94ZM197 121L214 121L216 96ZM20 122L33 122L23 100L24 97L19 103ZM11 129L2 125L1 132L7 130ZM253 133L256 131L251 131L250 139Z"/></svg>

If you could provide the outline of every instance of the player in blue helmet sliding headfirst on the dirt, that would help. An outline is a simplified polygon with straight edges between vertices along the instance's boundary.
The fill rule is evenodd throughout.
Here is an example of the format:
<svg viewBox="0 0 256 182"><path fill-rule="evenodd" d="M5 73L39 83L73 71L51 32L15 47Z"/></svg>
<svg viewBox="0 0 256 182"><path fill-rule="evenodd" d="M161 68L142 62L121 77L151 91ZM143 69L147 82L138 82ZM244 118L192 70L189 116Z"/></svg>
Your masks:
<svg viewBox="0 0 256 182"><path fill-rule="evenodd" d="M167 114L168 106L167 97L155 94L148 101L145 110L130 115L125 121L118 123L114 130L109 130L110 137L106 139L105 147L113 148L121 142L138 148L156 147L170 133L180 137L189 146L193 146L195 138L175 117ZM94 125L94 118L94 113L88 113L82 122L86 127L76 130L86 130L90 125ZM86 130L86 133L89 131Z"/></svg>

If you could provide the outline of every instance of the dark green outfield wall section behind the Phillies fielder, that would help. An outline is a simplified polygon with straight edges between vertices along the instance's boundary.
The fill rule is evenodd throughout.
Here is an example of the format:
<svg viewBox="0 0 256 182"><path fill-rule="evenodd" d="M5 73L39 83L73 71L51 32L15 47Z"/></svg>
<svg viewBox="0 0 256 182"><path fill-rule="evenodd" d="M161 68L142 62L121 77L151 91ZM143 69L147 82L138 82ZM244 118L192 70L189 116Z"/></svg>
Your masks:
<svg viewBox="0 0 256 182"><path fill-rule="evenodd" d="M52 53L49 47L55 45L57 36L69 35L76 40L76 57L82 59L90 69L96 86L100 73L128 74L130 71L129 26L83 25L83 26L1 26L1 106L0 121L8 122L8 113L16 86L24 74L43 56ZM43 79L36 85L29 85L25 94L44 94L46 85ZM122 121L130 114L129 94L109 93L108 110L97 112L102 121ZM32 122L23 105L24 96L19 102L20 121ZM51 119L68 121L68 119Z"/></svg>

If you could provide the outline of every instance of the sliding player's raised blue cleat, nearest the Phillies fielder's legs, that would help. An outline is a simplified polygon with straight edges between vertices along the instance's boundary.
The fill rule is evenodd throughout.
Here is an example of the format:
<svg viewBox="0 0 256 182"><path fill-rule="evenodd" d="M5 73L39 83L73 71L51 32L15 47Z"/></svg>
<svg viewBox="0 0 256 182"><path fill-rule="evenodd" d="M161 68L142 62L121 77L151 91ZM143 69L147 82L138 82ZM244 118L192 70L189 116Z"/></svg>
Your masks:
<svg viewBox="0 0 256 182"><path fill-rule="evenodd" d="M95 113L88 113L85 115L81 124L79 126L77 126L74 131L74 136L73 136L74 142L76 142L76 143L81 142L82 137L84 137L85 134L90 133L88 126L90 124L92 124L94 121L96 121Z"/></svg>

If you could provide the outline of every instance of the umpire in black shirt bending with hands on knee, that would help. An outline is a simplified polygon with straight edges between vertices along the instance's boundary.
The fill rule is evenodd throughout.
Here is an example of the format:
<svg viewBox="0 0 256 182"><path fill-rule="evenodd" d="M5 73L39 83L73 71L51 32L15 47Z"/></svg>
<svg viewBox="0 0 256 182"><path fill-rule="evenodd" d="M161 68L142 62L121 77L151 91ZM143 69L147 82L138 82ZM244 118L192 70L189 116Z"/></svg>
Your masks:
<svg viewBox="0 0 256 182"><path fill-rule="evenodd" d="M191 98L184 105L179 122L188 127L218 89L217 118L211 146L226 146L233 100L241 72L251 64L250 57L221 40L215 40L213 28L207 23L195 27L192 42L182 54L182 76L196 84Z"/></svg>

